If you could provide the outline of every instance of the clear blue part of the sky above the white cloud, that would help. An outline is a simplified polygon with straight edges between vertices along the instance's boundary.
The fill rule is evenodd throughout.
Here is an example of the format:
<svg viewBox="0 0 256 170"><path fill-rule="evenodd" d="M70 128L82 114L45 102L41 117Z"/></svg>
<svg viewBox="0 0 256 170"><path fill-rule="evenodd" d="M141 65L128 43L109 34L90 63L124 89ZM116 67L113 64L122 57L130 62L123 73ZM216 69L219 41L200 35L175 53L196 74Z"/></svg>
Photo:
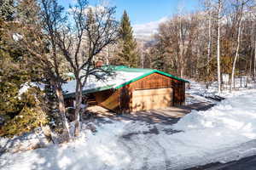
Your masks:
<svg viewBox="0 0 256 170"><path fill-rule="evenodd" d="M90 0L90 3L95 2L95 0ZM118 19L126 10L133 25L172 16L177 13L178 6L183 6L185 11L195 10L199 6L199 0L108 0L108 2L117 7ZM69 3L73 3L73 0L61 0L61 5L66 8Z"/></svg>

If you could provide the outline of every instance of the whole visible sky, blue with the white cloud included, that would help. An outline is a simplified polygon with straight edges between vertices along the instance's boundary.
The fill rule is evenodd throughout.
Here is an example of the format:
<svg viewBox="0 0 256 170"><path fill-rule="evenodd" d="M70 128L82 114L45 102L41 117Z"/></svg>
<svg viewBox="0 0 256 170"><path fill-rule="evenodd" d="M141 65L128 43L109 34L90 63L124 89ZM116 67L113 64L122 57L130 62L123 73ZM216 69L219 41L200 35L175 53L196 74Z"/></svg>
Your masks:
<svg viewBox="0 0 256 170"><path fill-rule="evenodd" d="M61 4L68 7L74 0L61 0ZM111 6L116 6L117 19L120 19L124 10L130 16L133 31L137 37L150 37L159 24L168 17L177 14L178 8L183 11L193 11L199 8L200 0L90 0L96 2L108 1Z"/></svg>

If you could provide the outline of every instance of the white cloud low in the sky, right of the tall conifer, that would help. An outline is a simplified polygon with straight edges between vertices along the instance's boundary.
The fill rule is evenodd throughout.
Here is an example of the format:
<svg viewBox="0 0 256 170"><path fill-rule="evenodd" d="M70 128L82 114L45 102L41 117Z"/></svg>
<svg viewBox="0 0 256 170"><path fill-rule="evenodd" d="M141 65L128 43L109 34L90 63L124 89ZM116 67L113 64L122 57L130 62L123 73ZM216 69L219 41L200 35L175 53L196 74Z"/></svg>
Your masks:
<svg viewBox="0 0 256 170"><path fill-rule="evenodd" d="M151 21L145 24L139 24L133 26L134 36L138 39L149 40L154 33L157 32L160 23L168 20L168 17L164 17L160 20Z"/></svg>

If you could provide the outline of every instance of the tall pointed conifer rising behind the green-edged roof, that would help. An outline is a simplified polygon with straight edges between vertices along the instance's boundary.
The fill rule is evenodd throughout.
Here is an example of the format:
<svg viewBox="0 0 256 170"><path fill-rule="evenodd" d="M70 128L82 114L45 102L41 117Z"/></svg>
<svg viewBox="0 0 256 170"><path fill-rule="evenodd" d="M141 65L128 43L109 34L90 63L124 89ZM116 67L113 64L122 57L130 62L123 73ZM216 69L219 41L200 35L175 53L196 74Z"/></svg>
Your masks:
<svg viewBox="0 0 256 170"><path fill-rule="evenodd" d="M137 67L139 59L137 53L137 42L133 38L131 22L126 11L121 19L119 38L121 52L118 54L117 64Z"/></svg>

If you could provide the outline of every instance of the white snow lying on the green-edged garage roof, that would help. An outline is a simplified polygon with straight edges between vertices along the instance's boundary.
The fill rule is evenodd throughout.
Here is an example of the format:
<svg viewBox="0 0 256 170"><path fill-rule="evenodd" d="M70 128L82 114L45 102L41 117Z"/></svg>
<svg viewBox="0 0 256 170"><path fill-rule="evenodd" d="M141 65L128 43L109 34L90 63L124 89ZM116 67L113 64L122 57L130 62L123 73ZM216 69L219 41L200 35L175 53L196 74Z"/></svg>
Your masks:
<svg viewBox="0 0 256 170"><path fill-rule="evenodd" d="M90 76L88 77L87 83L84 86L83 91L87 91L88 93L90 93L93 91L101 91L104 89L115 88L125 82L131 81L134 78L141 77L144 74L145 71L115 71L113 76L108 76L102 80L97 80L96 77ZM63 84L62 89L66 97L69 97L70 95L75 93L76 81L73 80Z"/></svg>

